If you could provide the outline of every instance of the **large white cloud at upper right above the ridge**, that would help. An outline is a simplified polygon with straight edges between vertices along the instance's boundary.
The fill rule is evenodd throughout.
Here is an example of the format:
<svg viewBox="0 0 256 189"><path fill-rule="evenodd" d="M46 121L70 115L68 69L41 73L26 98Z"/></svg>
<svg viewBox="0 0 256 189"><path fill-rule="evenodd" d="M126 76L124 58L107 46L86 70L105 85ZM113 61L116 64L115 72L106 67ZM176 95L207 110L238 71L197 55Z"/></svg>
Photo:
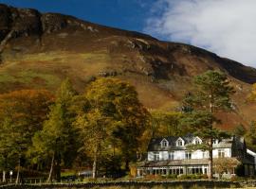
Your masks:
<svg viewBox="0 0 256 189"><path fill-rule="evenodd" d="M256 0L158 0L144 32L256 67Z"/></svg>

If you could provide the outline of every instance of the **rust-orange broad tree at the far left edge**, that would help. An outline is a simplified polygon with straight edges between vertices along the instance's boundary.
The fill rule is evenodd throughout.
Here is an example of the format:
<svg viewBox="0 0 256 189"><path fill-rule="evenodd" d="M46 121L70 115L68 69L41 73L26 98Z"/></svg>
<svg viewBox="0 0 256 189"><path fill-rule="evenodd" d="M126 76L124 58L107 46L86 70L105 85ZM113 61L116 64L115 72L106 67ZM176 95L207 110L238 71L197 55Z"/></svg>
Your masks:
<svg viewBox="0 0 256 189"><path fill-rule="evenodd" d="M20 90L0 95L0 155L3 175L6 169L17 164L20 179L21 162L27 155L28 146L36 130L46 119L53 96L46 90ZM5 178L3 178L5 180Z"/></svg>

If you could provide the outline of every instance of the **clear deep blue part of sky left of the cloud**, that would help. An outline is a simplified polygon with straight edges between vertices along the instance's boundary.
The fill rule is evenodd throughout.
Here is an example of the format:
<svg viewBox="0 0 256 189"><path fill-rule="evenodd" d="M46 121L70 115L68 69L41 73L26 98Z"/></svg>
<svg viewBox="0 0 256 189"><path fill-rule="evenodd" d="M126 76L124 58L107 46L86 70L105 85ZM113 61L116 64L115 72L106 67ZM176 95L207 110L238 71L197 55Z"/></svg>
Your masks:
<svg viewBox="0 0 256 189"><path fill-rule="evenodd" d="M59 12L93 23L143 31L154 0L0 0L18 8ZM145 3L146 2L146 3Z"/></svg>

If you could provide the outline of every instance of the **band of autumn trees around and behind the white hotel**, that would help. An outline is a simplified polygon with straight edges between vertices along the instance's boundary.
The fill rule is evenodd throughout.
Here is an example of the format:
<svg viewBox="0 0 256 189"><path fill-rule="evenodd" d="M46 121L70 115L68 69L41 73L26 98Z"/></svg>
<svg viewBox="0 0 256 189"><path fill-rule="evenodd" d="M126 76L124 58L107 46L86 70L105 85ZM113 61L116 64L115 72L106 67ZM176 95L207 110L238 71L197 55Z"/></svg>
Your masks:
<svg viewBox="0 0 256 189"><path fill-rule="evenodd" d="M229 134L245 136L247 146L255 149L253 120L248 131L243 125L233 133L216 129L221 120L215 113L232 111L234 90L226 75L208 71L195 77L193 86L176 112L149 112L133 86L113 77L90 82L83 94L69 79L55 94L46 90L0 94L3 181L10 170L15 170L16 182L27 171L47 173L47 181L59 181L62 169L81 167L91 169L93 178L122 177L142 159L152 137L188 132L204 139L200 147L205 150L212 151L212 140ZM256 100L255 85L248 100Z"/></svg>

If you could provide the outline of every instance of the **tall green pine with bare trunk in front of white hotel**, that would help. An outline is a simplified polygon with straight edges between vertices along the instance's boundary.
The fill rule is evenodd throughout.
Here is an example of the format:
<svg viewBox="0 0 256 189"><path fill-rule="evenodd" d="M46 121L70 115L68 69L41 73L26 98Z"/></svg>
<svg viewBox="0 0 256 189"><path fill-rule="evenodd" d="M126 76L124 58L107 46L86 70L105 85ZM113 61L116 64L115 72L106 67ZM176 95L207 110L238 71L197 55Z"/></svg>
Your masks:
<svg viewBox="0 0 256 189"><path fill-rule="evenodd" d="M207 71L206 73L194 77L194 92L187 94L184 99L184 110L189 110L185 116L185 123L196 129L196 134L205 141L209 150L209 179L212 179L212 142L226 134L213 125L217 119L215 112L229 111L232 108L230 95L234 93L229 85L228 77L217 71ZM191 123L186 120L191 119Z"/></svg>

